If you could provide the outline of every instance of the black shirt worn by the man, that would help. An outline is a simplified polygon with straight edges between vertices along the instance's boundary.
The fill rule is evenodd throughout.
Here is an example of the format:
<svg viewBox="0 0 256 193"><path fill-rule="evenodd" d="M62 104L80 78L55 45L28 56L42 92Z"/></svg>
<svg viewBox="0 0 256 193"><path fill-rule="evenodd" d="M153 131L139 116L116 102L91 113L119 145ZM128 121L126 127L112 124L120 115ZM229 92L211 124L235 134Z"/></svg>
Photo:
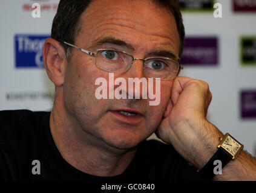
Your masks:
<svg viewBox="0 0 256 193"><path fill-rule="evenodd" d="M40 174L32 169L40 162ZM38 171L38 170L37 170ZM114 177L86 174L66 162L50 132L50 112L0 111L0 179L4 180L203 180L171 145L156 140L139 144L131 164Z"/></svg>

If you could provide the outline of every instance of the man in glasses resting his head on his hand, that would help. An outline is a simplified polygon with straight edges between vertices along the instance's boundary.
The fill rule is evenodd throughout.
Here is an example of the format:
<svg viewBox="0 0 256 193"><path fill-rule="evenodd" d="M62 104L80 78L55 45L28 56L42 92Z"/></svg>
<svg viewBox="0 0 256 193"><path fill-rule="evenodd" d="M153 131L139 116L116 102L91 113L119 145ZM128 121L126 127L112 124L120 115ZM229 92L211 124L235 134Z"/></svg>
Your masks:
<svg viewBox="0 0 256 193"><path fill-rule="evenodd" d="M206 120L208 84L176 77L183 30L178 1L61 0L43 51L56 86L53 109L1 112L1 177L211 180L207 163L224 137ZM111 73L126 83L153 78L154 92L160 78L160 103L150 106L142 89L128 84L126 99L99 100L97 78L107 80L110 96ZM146 142L154 132L169 145ZM226 163L214 180L256 180L256 161L245 152Z"/></svg>

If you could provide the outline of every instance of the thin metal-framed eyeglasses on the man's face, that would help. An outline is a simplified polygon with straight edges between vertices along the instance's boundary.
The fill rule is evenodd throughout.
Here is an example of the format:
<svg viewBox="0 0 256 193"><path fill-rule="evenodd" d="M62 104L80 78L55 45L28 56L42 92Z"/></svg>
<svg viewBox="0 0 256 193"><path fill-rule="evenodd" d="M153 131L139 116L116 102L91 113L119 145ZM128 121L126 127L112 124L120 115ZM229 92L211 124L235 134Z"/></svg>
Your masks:
<svg viewBox="0 0 256 193"><path fill-rule="evenodd" d="M143 61L143 71L147 77L160 78L162 80L172 80L179 73L183 66L179 60L169 59L168 57L148 57L146 59L137 59L125 51L116 49L97 49L96 52L90 52L79 48L71 43L63 42L73 48L77 48L88 55L95 57L97 68L107 72L123 73L133 65L134 60Z"/></svg>

